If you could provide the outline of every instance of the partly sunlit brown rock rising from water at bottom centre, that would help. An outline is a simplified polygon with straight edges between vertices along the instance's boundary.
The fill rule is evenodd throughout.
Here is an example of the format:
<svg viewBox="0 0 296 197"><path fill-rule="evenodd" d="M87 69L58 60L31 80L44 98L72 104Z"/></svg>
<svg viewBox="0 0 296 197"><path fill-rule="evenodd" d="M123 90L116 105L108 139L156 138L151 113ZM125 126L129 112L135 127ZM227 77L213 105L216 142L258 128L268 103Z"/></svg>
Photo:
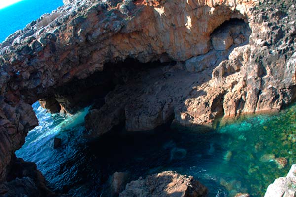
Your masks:
<svg viewBox="0 0 296 197"><path fill-rule="evenodd" d="M206 197L207 192L192 176L166 171L130 182L119 197Z"/></svg>

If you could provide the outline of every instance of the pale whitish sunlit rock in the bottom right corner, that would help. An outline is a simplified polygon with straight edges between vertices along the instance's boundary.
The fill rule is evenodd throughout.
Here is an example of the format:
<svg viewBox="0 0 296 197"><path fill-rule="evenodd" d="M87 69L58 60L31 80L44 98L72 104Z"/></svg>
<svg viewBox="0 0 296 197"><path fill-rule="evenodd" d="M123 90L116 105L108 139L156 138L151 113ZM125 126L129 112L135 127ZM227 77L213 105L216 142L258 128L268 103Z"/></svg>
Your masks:
<svg viewBox="0 0 296 197"><path fill-rule="evenodd" d="M276 179L267 188L264 197L295 197L296 164L293 164L286 177Z"/></svg>

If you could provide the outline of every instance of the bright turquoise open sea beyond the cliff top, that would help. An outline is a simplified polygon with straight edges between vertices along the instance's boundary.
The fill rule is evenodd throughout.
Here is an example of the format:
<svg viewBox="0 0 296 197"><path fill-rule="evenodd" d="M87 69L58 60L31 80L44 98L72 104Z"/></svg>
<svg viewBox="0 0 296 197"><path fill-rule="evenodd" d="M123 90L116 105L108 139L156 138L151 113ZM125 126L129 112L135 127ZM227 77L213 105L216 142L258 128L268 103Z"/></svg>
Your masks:
<svg viewBox="0 0 296 197"><path fill-rule="evenodd" d="M45 13L63 5L63 0L22 0L0 9L0 42Z"/></svg>

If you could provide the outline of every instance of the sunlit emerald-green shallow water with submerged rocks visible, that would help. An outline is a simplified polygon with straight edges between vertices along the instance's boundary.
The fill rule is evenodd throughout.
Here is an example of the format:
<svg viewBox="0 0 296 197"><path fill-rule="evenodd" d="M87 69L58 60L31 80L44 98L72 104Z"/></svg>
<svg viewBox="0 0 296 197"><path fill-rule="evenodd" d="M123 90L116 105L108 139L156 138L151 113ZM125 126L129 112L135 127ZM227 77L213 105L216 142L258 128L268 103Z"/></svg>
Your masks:
<svg viewBox="0 0 296 197"><path fill-rule="evenodd" d="M219 164L219 182L229 196L236 192L264 196L268 185L296 163L296 105L276 115L240 118L217 132L222 135L214 143L227 150Z"/></svg>

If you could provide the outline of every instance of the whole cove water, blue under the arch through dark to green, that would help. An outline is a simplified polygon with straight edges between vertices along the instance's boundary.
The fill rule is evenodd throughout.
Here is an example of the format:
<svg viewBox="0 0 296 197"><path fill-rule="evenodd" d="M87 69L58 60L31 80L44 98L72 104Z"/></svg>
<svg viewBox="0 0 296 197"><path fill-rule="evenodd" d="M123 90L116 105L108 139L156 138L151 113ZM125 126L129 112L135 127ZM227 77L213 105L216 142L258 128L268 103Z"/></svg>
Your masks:
<svg viewBox="0 0 296 197"><path fill-rule="evenodd" d="M210 190L210 197L248 192L264 195L267 186L296 163L296 106L276 115L241 118L213 131L158 128L154 132L82 137L88 108L71 117L45 113L33 105L40 126L30 131L17 156L37 164L52 188L71 196L99 196L115 171L132 179L164 170L192 175ZM62 147L53 149L53 138ZM281 168L275 158L284 157Z"/></svg>

